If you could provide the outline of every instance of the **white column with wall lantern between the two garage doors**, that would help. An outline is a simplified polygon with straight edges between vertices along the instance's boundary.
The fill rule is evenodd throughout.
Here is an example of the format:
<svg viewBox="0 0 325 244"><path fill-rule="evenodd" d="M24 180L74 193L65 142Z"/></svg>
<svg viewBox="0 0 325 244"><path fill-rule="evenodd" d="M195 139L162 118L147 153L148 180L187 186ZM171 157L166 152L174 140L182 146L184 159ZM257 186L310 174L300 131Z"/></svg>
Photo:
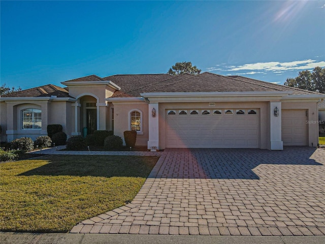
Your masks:
<svg viewBox="0 0 325 244"><path fill-rule="evenodd" d="M274 115L275 108L278 108L279 116ZM283 150L281 123L282 123L281 102L270 102L271 150Z"/></svg>

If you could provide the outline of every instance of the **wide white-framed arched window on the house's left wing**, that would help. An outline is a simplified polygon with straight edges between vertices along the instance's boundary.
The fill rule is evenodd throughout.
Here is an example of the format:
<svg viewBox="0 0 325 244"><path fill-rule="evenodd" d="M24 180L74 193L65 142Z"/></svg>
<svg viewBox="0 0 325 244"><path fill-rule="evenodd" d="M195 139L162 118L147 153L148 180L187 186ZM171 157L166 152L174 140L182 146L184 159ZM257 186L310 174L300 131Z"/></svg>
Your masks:
<svg viewBox="0 0 325 244"><path fill-rule="evenodd" d="M21 110L22 130L42 129L42 110L36 108L26 108Z"/></svg>

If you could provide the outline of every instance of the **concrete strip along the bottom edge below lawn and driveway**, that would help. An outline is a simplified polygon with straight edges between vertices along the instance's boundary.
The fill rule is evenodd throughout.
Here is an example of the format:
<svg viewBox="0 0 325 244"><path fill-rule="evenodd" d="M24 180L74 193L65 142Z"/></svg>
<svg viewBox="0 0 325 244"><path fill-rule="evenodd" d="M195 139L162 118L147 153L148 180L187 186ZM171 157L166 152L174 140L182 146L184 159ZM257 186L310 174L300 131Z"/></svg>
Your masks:
<svg viewBox="0 0 325 244"><path fill-rule="evenodd" d="M199 235L131 235L131 234L62 234L1 232L2 244L100 244L100 243L270 243L270 244L323 244L325 236L199 236Z"/></svg>

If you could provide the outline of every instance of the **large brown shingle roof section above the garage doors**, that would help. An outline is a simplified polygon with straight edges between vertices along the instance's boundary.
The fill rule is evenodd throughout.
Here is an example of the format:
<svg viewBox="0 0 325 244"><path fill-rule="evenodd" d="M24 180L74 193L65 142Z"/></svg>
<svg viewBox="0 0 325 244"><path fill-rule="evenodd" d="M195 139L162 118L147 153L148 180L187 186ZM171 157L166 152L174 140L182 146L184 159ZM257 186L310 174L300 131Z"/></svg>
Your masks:
<svg viewBox="0 0 325 244"><path fill-rule="evenodd" d="M113 76L111 76L113 77ZM106 77L105 79L111 79ZM223 76L209 72L200 75L178 75L165 80L141 80L126 82L124 77L120 78L119 86L123 90L115 92L113 97L141 97L140 93L185 93L185 92L280 92L288 91L295 95L317 94L298 88L273 84L270 82L250 79L242 76ZM147 77L148 78L148 77ZM149 77L150 78L150 77ZM128 79L132 79L129 75ZM112 80L114 82L114 80ZM126 82L127 85L124 86ZM115 82L114 82L115 83Z"/></svg>

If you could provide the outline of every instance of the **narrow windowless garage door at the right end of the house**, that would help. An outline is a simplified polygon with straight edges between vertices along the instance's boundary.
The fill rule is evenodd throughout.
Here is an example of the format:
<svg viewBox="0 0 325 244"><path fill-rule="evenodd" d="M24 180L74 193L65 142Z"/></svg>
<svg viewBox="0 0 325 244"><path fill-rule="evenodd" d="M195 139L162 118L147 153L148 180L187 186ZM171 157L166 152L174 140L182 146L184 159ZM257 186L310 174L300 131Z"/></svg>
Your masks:
<svg viewBox="0 0 325 244"><path fill-rule="evenodd" d="M282 110L282 141L285 146L306 146L307 124L306 110Z"/></svg>

